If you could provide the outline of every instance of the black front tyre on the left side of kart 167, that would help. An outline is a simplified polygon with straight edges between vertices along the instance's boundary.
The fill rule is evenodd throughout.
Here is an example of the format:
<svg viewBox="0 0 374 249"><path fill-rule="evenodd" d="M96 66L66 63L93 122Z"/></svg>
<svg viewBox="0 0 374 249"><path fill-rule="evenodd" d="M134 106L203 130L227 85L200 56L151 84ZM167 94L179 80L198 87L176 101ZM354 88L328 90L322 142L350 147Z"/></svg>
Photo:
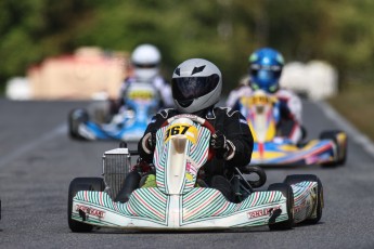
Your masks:
<svg viewBox="0 0 374 249"><path fill-rule="evenodd" d="M101 178L76 178L70 182L67 200L67 223L74 233L91 232L93 226L72 219L73 198L79 191L104 191L104 180Z"/></svg>

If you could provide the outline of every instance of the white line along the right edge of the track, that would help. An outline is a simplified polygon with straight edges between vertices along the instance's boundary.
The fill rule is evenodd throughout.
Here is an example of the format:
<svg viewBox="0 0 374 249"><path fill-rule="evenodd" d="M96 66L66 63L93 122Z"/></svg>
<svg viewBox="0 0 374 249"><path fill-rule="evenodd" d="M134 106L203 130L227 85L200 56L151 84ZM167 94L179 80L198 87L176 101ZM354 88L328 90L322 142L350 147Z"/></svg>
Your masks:
<svg viewBox="0 0 374 249"><path fill-rule="evenodd" d="M362 146L362 148L374 157L374 144L373 142L363 133L361 133L357 128L353 127L347 119L340 116L332 106L326 102L314 102L327 118L334 120L339 129L347 132L349 139L354 141L357 144Z"/></svg>

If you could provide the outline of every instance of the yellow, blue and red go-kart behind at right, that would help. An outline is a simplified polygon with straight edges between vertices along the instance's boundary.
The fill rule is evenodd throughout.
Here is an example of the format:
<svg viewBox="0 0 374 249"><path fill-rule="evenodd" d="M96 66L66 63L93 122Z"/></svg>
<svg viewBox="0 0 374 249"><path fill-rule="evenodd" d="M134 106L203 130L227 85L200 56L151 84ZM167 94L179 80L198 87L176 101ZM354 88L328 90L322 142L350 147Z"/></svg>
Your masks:
<svg viewBox="0 0 374 249"><path fill-rule="evenodd" d="M323 131L317 140L295 144L280 134L280 102L265 91L241 97L238 109L254 135L252 165L260 166L340 166L347 158L347 134Z"/></svg>

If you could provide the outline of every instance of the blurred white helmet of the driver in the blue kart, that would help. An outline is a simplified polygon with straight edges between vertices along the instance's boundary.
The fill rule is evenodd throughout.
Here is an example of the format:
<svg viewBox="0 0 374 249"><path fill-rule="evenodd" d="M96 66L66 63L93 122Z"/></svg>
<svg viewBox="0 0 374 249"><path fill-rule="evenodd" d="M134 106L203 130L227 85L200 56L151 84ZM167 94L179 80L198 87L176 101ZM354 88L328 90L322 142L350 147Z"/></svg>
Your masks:
<svg viewBox="0 0 374 249"><path fill-rule="evenodd" d="M152 44L138 45L131 54L134 76L139 80L151 80L158 75L162 55Z"/></svg>

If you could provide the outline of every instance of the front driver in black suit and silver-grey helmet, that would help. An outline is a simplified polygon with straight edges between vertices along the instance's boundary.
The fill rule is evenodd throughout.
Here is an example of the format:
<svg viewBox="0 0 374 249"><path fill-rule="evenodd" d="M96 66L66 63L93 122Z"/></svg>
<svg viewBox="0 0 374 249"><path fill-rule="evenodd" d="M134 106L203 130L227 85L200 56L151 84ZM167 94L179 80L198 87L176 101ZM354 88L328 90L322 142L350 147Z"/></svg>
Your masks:
<svg viewBox="0 0 374 249"><path fill-rule="evenodd" d="M197 183L199 186L219 189L231 200L233 194L224 172L230 168L241 169L249 163L254 139L247 121L240 112L215 107L220 99L221 89L221 71L209 61L190 58L180 64L175 69L171 80L176 108L163 109L153 117L138 144L138 150L140 157L151 163L156 131L165 120L179 114L193 114L206 119L216 130L210 137L210 146L216 153L215 157L204 165L204 180ZM155 175L143 176L140 185L156 186Z"/></svg>

